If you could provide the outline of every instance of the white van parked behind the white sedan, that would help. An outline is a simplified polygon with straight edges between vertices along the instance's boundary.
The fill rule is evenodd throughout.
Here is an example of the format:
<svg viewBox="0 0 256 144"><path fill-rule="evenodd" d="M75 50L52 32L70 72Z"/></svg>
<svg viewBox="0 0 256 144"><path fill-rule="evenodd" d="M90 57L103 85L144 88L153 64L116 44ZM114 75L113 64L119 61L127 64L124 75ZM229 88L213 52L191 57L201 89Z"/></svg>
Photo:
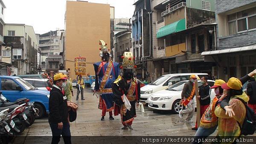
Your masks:
<svg viewBox="0 0 256 144"><path fill-rule="evenodd" d="M163 89L167 89L168 86L176 84L180 81L189 80L190 75L196 75L198 80L207 73L180 73L180 74L169 74L162 75L157 78L157 80L151 82L150 84L143 86L140 89L140 101L148 103L148 98L152 95L153 92L158 92Z"/></svg>

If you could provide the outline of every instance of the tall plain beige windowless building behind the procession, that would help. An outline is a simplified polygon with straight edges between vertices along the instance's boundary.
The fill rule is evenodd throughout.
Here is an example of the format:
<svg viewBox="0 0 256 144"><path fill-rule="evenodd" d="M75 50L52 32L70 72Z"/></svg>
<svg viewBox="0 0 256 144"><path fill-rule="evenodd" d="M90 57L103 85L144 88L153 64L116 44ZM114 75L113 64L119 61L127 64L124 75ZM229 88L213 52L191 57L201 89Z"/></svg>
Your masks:
<svg viewBox="0 0 256 144"><path fill-rule="evenodd" d="M99 61L99 40L111 49L111 19L114 8L108 4L67 1L65 14L64 67L76 79L74 59L86 58L86 73L95 75L93 63Z"/></svg>

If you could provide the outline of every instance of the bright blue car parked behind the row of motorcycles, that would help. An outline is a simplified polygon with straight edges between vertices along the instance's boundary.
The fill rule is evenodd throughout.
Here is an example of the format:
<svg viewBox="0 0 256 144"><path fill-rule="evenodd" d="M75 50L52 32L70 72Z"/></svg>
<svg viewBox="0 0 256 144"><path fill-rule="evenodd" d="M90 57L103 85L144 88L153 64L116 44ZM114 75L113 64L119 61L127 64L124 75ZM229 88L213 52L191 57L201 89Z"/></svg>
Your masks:
<svg viewBox="0 0 256 144"><path fill-rule="evenodd" d="M49 112L50 92L46 90L35 89L17 76L0 76L0 91L10 102L19 98L28 98L30 102L35 102L35 109L38 114L36 118L42 118L46 112Z"/></svg>

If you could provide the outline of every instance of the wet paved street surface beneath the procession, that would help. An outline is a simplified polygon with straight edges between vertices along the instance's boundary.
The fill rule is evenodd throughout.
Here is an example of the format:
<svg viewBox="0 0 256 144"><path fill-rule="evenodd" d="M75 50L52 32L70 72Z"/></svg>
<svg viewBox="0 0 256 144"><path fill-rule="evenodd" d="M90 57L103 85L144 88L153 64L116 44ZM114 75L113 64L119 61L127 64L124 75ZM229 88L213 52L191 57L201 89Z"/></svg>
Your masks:
<svg viewBox="0 0 256 144"><path fill-rule="evenodd" d="M76 89L74 92L76 95ZM76 97L72 98L73 102L79 104L76 122L70 123L71 135L73 136L189 136L195 134L195 131L191 130L195 123L185 123L180 121L178 115L174 115L169 111L153 111L153 109L146 106L144 106L145 113L137 110L137 118L135 118L132 125L134 130L121 130L120 116L114 116L115 119L111 121L108 119L107 113L105 121L100 121L101 110L97 108L99 99L93 96L93 92L89 88L84 89L84 96L85 101L81 101L81 98L78 101L76 101ZM196 115L194 115L193 121L195 121L195 118ZM48 119L37 119L22 135L51 136Z"/></svg>

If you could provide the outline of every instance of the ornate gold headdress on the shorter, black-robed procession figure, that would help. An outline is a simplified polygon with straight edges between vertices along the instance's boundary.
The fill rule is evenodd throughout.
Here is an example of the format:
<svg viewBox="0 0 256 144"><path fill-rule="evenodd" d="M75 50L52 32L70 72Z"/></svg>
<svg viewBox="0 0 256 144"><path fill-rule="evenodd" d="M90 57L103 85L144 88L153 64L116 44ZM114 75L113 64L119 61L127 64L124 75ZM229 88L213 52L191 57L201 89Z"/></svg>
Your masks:
<svg viewBox="0 0 256 144"><path fill-rule="evenodd" d="M123 59L122 66L120 66L120 75L123 75L123 69L132 69L134 76L137 75L136 68L137 66L134 64L134 56L132 52L125 52L121 57Z"/></svg>

